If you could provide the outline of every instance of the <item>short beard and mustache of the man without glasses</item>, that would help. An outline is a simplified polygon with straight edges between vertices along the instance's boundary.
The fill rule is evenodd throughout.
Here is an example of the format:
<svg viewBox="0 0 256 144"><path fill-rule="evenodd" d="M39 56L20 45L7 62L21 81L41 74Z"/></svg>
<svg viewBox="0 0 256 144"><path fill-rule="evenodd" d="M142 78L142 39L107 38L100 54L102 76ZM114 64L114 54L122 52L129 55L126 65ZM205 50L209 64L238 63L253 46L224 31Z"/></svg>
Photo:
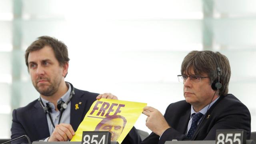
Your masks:
<svg viewBox="0 0 256 144"><path fill-rule="evenodd" d="M46 80L47 82L50 83L50 85L39 84L39 86L38 86L39 80ZM61 79L58 78L58 76L56 76L52 82L51 82L50 78L45 78L45 77L40 76L37 78L36 82L33 83L33 85L41 95L52 96L53 94L55 94L58 91L60 82L61 82Z"/></svg>

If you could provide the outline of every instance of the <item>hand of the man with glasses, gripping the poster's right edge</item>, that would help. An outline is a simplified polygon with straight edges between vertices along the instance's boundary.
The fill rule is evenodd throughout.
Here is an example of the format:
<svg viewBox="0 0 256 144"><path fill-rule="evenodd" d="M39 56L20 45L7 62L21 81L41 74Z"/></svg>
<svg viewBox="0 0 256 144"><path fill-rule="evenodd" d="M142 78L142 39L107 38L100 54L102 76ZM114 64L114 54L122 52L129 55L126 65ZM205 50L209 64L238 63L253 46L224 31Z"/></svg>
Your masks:
<svg viewBox="0 0 256 144"><path fill-rule="evenodd" d="M164 116L157 109L146 106L142 113L148 116L146 126L158 136L161 136L166 129L170 128Z"/></svg>

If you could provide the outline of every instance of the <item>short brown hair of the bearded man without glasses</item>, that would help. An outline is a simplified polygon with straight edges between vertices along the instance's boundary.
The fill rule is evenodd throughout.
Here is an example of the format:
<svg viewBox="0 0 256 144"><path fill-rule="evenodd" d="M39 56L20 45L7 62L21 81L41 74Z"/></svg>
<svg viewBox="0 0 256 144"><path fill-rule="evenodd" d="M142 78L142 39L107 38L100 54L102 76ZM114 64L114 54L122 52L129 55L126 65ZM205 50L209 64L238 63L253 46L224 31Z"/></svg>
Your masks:
<svg viewBox="0 0 256 144"><path fill-rule="evenodd" d="M38 40L34 41L32 44L30 44L30 46L28 46L25 52L25 61L27 67L29 53L36 50L40 50L44 48L44 46L50 46L52 48L52 50L54 51L54 55L58 60L60 66L63 66L64 64L66 64L66 62L70 60L68 58L68 48L63 42L50 36L40 36L38 37Z"/></svg>

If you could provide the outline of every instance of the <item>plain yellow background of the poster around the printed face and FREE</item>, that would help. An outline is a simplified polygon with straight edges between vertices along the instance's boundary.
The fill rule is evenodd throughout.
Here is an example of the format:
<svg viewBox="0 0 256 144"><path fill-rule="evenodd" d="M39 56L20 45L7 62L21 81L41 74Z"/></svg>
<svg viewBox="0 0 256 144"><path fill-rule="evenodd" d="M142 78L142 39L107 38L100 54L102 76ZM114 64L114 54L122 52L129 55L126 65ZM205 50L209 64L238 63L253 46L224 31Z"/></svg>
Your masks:
<svg viewBox="0 0 256 144"><path fill-rule="evenodd" d="M100 101L102 104L104 102L109 103L109 107L106 109L104 116L101 116L102 113L97 116L102 104L97 104L97 102ZM94 110L94 106L97 104L98 110ZM75 132L75 135L73 136L71 141L82 141L82 133L83 131L94 131L98 123L103 119L106 118L106 113L110 109L111 104L124 104L124 107L120 107L121 112L117 113L116 115L124 116L127 120L126 125L124 127L124 130L120 137L118 138L119 144L124 140L128 132L132 129L134 126L136 120L140 116L140 114L143 111L143 108L147 105L146 103L140 103L140 102L128 102L128 101L122 101L122 100L112 100L112 99L105 99L102 98L100 100L96 100L92 106L90 107L90 110L87 112L87 114L84 117L84 120L80 123L78 126L78 129ZM110 112L109 115L113 115L118 106L114 106L112 109L113 112ZM94 110L93 114L90 114ZM92 117L90 117L92 116Z"/></svg>

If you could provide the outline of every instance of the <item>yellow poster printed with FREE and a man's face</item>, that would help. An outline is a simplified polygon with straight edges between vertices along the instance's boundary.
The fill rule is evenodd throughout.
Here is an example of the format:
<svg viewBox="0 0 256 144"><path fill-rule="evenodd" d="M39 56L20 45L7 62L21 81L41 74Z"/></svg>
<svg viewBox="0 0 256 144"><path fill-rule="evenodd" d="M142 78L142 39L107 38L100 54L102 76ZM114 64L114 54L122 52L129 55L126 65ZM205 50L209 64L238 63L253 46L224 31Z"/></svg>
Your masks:
<svg viewBox="0 0 256 144"><path fill-rule="evenodd" d="M81 142L83 131L109 131L111 141L118 141L121 144L146 105L146 103L105 98L96 100L71 141Z"/></svg>

